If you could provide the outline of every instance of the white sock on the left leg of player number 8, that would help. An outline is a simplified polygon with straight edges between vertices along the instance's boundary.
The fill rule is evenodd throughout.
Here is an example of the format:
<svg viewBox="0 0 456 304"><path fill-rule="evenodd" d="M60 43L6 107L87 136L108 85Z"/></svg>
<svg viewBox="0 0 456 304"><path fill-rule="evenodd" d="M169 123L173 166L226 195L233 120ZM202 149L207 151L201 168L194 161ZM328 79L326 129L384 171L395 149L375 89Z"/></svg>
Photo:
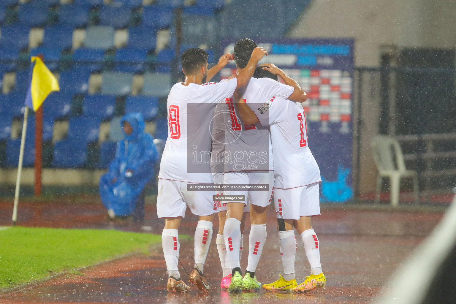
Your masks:
<svg viewBox="0 0 456 304"><path fill-rule="evenodd" d="M165 255L168 277L181 278L177 268L177 258L179 257L179 249L181 247L177 229L163 229L163 232L161 232L161 246Z"/></svg>

